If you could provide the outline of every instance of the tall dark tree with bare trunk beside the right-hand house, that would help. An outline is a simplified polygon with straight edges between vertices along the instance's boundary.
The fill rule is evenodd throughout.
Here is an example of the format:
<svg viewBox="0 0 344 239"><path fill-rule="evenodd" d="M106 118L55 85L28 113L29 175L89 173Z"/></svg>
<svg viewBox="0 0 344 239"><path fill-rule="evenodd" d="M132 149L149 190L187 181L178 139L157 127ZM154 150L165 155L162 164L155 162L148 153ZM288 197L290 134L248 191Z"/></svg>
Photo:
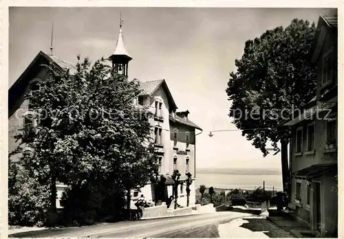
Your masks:
<svg viewBox="0 0 344 239"><path fill-rule="evenodd" d="M314 96L316 72L310 52L315 30L314 23L294 19L288 27L276 27L246 41L243 56L235 60L237 71L230 73L226 89L232 102L229 115L234 118L233 124L264 157L269 153L268 141L272 141L275 153L279 152L277 143L281 142L285 191L290 129L278 126L283 117Z"/></svg>

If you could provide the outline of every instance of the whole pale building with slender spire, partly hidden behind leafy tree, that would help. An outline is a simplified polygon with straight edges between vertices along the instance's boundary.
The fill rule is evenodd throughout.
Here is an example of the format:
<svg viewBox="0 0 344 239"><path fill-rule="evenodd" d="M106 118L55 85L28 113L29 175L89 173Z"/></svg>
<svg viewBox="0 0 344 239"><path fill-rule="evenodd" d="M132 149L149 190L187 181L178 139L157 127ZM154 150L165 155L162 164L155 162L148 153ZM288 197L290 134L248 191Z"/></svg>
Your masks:
<svg viewBox="0 0 344 239"><path fill-rule="evenodd" d="M127 50L125 49L122 37L122 25L120 25L120 32L115 51L109 56L112 67L117 73L128 75L129 61L132 60ZM37 89L37 84L40 80L47 79L47 68L45 65L52 63L58 70L69 70L69 73L76 73L76 67L65 60L61 60L52 54L45 54L39 52L32 60L27 69L21 74L19 79L12 84L8 90L8 146L9 153L13 152L17 146L21 145L21 152L10 156L11 161L19 161L25 153L32 152L32 149L25 146L25 141L32 140L31 133L25 132L24 141L15 139L21 128L30 126L33 128L34 113L30 111L30 102L24 100L24 96L30 91ZM167 87L165 80L153 80L149 82L142 82L142 94L136 99L135 104L149 105L151 111L155 116L150 119L154 126L152 138L155 140L155 148L158 150L160 174L164 174L169 185L167 191L171 195L171 174L173 169L180 170L182 180L186 178L185 172L191 172L193 179L195 179L195 130L201 130L196 124L188 119L189 111L184 113L176 112L176 106L171 92ZM175 136L177 135L177 136ZM21 144L24 143L24 144ZM65 185L56 182L57 195L56 207L61 208L61 196L65 189ZM185 186L180 186L180 204L186 205ZM133 192L133 199L137 199L139 195L144 194L148 200L154 201L154 186L149 184L142 188L140 192ZM185 200L184 200L185 197ZM185 203L184 203L185 201ZM191 186L191 205L195 203L195 183Z"/></svg>

